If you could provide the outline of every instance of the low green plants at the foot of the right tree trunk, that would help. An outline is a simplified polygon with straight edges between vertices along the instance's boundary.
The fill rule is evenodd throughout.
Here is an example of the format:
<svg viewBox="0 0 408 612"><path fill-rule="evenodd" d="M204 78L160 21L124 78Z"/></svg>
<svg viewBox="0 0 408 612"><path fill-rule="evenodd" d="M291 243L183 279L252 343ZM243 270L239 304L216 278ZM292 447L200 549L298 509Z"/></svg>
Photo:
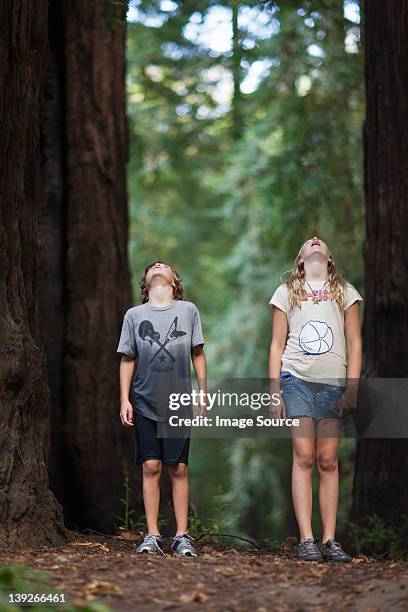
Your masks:
<svg viewBox="0 0 408 612"><path fill-rule="evenodd" d="M358 555L406 559L408 557L408 516L402 517L402 525L388 525L376 514L369 515L364 525L350 526L353 544Z"/></svg>

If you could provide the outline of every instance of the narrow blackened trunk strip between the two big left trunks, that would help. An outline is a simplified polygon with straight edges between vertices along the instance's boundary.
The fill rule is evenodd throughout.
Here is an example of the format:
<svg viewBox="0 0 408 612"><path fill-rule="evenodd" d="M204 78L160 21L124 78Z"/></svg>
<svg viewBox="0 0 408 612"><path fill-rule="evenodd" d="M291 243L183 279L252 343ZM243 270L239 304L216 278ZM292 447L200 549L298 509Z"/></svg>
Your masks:
<svg viewBox="0 0 408 612"><path fill-rule="evenodd" d="M37 303L52 402L48 474L51 490L64 502L65 478L61 465L66 325L64 30L62 3L55 0L49 2L48 44L48 72L41 103L41 178L45 197L39 215Z"/></svg>

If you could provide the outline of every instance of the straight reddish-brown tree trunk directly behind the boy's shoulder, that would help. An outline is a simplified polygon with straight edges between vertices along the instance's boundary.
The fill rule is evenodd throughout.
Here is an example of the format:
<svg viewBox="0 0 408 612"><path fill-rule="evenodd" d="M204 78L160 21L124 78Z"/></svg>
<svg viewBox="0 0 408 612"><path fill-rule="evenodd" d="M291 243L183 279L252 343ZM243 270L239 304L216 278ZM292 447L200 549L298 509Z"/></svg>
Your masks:
<svg viewBox="0 0 408 612"><path fill-rule="evenodd" d="M67 524L112 531L132 460L119 355L132 305L127 257L126 2L63 3L66 244L62 416ZM130 461L129 461L130 460ZM136 488L135 470L129 484Z"/></svg>

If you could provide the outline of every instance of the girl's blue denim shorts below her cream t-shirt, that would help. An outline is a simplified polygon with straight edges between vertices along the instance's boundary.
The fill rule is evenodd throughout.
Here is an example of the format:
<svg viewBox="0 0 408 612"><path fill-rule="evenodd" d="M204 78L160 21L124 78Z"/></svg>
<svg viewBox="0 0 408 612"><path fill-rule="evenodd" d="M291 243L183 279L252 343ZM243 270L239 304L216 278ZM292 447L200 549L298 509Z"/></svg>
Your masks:
<svg viewBox="0 0 408 612"><path fill-rule="evenodd" d="M289 418L308 416L315 421L340 418L337 403L345 386L310 382L283 371L280 387Z"/></svg>

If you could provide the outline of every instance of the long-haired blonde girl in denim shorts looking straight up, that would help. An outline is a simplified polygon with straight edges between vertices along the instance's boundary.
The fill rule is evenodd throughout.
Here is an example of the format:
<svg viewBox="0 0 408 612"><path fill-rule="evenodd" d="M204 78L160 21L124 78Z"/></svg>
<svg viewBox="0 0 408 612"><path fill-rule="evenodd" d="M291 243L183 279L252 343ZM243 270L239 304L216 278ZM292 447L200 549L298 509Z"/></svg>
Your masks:
<svg viewBox="0 0 408 612"><path fill-rule="evenodd" d="M280 404L271 404L271 411L278 418L300 422L292 430L292 498L300 533L298 557L305 561L351 561L335 540L339 421L357 403L361 301L336 271L327 245L314 236L303 244L294 268L269 302L273 307L269 378L271 392L281 393ZM323 527L320 546L312 532L315 462Z"/></svg>

